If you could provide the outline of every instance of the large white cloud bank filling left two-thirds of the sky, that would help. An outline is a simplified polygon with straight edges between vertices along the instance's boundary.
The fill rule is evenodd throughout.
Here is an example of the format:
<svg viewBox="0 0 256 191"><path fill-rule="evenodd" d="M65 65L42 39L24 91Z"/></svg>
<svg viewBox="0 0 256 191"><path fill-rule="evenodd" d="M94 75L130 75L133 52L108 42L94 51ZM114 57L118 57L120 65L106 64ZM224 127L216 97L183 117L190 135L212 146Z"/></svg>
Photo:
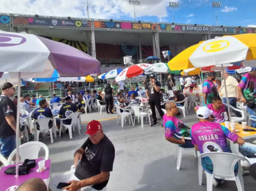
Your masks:
<svg viewBox="0 0 256 191"><path fill-rule="evenodd" d="M22 3L21 3L22 1ZM140 0L135 5L136 17L167 17L169 0ZM179 0L173 0L179 2ZM87 0L0 0L0 12L50 15L60 17L87 17ZM89 17L96 19L118 19L134 17L134 7L128 0L91 0Z"/></svg>

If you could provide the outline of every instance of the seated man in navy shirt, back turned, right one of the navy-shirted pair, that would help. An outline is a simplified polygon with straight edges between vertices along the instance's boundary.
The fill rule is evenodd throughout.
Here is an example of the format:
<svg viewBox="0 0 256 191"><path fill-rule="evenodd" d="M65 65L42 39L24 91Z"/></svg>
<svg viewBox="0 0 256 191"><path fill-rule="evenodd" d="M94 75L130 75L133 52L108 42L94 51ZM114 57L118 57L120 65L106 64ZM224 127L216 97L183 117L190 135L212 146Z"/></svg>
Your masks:
<svg viewBox="0 0 256 191"><path fill-rule="evenodd" d="M67 118L71 114L78 111L77 106L72 103L72 100L69 96L65 98L65 101L66 101L66 103L63 104L62 107L60 108L59 118L56 119L56 124L58 126L58 129L60 129L60 119L61 118ZM71 121L72 121L72 119L63 120L63 124L70 125ZM64 129L63 129L63 131L64 131ZM68 133L68 130L66 131L66 133Z"/></svg>

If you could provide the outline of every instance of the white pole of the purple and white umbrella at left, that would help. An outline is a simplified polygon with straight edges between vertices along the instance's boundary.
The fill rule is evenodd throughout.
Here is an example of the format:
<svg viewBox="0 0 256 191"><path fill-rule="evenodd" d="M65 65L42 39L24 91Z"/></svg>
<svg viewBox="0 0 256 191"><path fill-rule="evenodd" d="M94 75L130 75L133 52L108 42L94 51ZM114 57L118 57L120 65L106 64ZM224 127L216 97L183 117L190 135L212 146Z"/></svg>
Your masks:
<svg viewBox="0 0 256 191"><path fill-rule="evenodd" d="M20 84L21 73L18 73L18 98L20 100ZM19 139L20 139L20 104L17 104L17 120L16 120L16 177L19 176Z"/></svg>

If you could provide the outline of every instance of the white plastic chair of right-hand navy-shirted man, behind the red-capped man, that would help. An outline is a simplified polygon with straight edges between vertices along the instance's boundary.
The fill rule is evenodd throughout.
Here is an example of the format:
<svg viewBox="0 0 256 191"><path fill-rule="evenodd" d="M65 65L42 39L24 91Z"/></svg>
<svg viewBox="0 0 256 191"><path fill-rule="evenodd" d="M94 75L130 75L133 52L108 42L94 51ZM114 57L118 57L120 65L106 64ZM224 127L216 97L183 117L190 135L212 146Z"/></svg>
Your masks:
<svg viewBox="0 0 256 191"><path fill-rule="evenodd" d="M63 130L63 126L68 128L69 134L70 134L70 138L72 139L72 130L75 131L75 125L77 124L77 128L78 128L78 133L79 135L80 133L80 129L81 129L81 120L80 120L80 115L81 112L77 111L73 114L71 114L70 116L68 116L67 118L61 118L60 119L60 135L61 135L61 131ZM67 119L71 119L71 124L70 125L65 125L63 124L63 120L67 120ZM63 130L64 131L64 130Z"/></svg>

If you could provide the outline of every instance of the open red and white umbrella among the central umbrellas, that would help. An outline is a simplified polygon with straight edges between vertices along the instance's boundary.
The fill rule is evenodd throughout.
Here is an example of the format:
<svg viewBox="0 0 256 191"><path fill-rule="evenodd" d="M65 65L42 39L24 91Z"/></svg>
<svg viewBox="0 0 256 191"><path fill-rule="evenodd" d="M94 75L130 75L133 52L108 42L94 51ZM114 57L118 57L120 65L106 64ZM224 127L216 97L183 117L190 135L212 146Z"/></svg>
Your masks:
<svg viewBox="0 0 256 191"><path fill-rule="evenodd" d="M135 64L128 68L125 68L119 75L116 77L116 81L124 81L127 78L136 77L138 75L142 75L144 73L149 72L153 67L153 64Z"/></svg>

